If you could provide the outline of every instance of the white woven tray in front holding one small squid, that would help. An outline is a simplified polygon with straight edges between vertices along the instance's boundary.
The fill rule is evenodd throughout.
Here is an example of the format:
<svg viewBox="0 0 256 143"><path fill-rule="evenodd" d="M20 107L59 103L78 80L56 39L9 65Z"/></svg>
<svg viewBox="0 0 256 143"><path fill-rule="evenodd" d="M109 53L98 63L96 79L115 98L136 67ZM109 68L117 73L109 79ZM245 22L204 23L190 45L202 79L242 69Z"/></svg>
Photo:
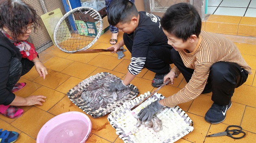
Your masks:
<svg viewBox="0 0 256 143"><path fill-rule="evenodd" d="M148 95L150 95L150 92L127 101L108 115L108 121L124 143L173 143L194 129L192 120L178 106L174 108L165 107L156 114L163 123L163 130L160 132L154 132L152 128L143 125L136 127L137 119L133 115L138 114L141 109L158 98L165 98L163 95L155 93L147 101L130 111L134 105Z"/></svg>

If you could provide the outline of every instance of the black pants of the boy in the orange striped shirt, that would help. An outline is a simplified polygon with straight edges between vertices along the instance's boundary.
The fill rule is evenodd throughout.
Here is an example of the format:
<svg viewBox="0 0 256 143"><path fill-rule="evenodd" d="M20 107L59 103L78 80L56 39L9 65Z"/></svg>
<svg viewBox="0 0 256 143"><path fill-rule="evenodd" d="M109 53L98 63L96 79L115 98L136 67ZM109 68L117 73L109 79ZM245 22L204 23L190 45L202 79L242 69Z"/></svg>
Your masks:
<svg viewBox="0 0 256 143"><path fill-rule="evenodd" d="M171 50L171 58L185 80L189 82L194 69L185 67L180 54L175 49ZM207 84L202 93L210 93L212 91L213 102L219 105L228 105L234 89L241 86L247 80L247 77L247 71L238 64L219 61L210 67Z"/></svg>

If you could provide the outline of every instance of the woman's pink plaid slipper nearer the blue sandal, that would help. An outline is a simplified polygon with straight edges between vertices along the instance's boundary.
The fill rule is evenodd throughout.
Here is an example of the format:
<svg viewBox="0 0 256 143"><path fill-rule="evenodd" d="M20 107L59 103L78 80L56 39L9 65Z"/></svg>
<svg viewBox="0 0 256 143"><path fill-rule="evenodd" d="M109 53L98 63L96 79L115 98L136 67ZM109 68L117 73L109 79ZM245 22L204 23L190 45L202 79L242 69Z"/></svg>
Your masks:
<svg viewBox="0 0 256 143"><path fill-rule="evenodd" d="M2 114L3 116L6 116L8 118L19 118L23 115L24 110L16 107L16 106L12 106L12 105L0 105L0 114Z"/></svg>

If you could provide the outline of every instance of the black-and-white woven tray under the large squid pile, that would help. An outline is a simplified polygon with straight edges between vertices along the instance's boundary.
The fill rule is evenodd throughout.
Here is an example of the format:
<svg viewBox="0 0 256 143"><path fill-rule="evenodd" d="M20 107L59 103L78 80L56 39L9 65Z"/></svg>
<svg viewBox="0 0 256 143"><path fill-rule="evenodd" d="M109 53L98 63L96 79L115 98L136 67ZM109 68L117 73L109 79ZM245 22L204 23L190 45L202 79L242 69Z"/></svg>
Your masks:
<svg viewBox="0 0 256 143"><path fill-rule="evenodd" d="M90 84L93 80L95 80L97 78L102 78L103 76L106 76L107 74L109 74L109 73L102 72L102 73L98 73L94 76L91 76L91 77L83 80L79 84L77 84L74 88L69 90L69 92L67 93L67 97L76 106L78 106L80 109L85 111L87 114L91 115L93 118L100 118L102 116L105 116L106 114L113 111L115 108L123 105L124 102L134 99L139 93L136 86L129 84L131 92L128 95L126 95L126 96L128 96L128 99L121 100L121 101L115 101L113 103L108 103L108 105L105 108L100 107L99 109L91 109L90 107L87 106L84 99L82 99L82 96L81 96L82 91L85 87L90 86ZM109 74L109 75L114 76L113 74ZM116 77L116 76L114 76L114 77Z"/></svg>

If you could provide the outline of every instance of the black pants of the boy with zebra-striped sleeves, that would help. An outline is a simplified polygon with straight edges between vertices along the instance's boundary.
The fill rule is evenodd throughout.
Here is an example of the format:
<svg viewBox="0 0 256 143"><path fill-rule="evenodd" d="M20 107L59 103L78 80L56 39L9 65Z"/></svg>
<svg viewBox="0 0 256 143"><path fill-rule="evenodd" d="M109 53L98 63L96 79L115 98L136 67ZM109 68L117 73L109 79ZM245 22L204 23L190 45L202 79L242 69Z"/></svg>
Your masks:
<svg viewBox="0 0 256 143"><path fill-rule="evenodd" d="M132 53L133 41L126 33L123 36L126 48ZM170 71L171 47L149 46L144 67L157 74L168 74Z"/></svg>

